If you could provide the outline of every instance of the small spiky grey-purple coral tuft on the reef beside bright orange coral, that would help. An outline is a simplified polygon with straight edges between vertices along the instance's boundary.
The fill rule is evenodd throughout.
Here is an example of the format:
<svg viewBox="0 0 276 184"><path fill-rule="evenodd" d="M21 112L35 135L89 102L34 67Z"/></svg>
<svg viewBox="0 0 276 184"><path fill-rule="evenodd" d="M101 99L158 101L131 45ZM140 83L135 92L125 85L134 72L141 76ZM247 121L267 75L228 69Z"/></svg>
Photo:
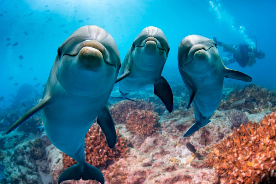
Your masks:
<svg viewBox="0 0 276 184"><path fill-rule="evenodd" d="M234 127L238 128L241 126L241 124L245 124L249 121L246 113L241 111L231 111L228 115L228 120L232 130Z"/></svg>

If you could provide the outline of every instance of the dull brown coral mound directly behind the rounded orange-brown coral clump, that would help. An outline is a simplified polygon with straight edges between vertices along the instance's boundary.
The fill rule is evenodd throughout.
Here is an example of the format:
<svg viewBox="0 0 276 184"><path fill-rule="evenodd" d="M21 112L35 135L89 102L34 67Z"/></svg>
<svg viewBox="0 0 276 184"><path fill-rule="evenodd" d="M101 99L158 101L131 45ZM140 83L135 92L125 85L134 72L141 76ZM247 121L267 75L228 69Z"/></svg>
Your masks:
<svg viewBox="0 0 276 184"><path fill-rule="evenodd" d="M125 118L127 117L127 114L131 111L135 110L154 110L153 103L149 103L148 101L144 100L137 100L138 102L130 101L130 100L124 100L120 101L119 103L116 103L115 105L111 106L109 108L110 114L112 115L112 118L114 120L115 124L125 123Z"/></svg>

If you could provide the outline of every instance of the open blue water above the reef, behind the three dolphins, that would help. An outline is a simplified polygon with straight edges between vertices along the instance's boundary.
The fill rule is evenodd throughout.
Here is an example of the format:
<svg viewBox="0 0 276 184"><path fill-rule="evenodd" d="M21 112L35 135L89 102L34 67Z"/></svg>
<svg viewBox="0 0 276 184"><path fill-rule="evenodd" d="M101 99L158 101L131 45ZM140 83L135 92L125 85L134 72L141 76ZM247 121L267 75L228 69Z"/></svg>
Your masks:
<svg viewBox="0 0 276 184"><path fill-rule="evenodd" d="M162 75L170 84L183 84L177 66L178 44L183 37L215 36L218 41L237 44L252 42L250 37L255 35L265 58L256 59L253 67L241 68L237 63L227 67L250 75L252 83L276 90L275 5L275 1L254 0L1 0L0 96L5 99L0 107L7 107L25 83L38 84L36 88L42 93L58 46L87 24L101 26L114 37L121 60L142 29L150 25L162 29L171 47ZM18 45L12 46L16 42ZM227 54L222 48L219 51L221 56ZM225 83L247 84L228 79Z"/></svg>

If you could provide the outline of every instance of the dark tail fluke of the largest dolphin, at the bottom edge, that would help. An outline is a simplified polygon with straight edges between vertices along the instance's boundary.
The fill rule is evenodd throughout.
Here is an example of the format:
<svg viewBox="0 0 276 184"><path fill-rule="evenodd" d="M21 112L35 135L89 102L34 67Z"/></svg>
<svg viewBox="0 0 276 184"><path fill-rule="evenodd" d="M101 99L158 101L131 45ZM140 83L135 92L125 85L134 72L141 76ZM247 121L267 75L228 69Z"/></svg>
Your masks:
<svg viewBox="0 0 276 184"><path fill-rule="evenodd" d="M80 164L75 164L61 173L58 184L66 180L94 180L104 184L104 176L96 167L85 163L83 169Z"/></svg>

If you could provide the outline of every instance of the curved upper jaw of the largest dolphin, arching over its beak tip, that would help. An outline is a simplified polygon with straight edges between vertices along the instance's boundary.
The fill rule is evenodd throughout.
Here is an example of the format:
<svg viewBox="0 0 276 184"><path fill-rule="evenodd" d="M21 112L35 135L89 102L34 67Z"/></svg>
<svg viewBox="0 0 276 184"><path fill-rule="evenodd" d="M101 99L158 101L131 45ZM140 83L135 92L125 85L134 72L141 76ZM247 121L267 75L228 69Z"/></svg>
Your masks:
<svg viewBox="0 0 276 184"><path fill-rule="evenodd" d="M91 48L97 49L98 51L100 51L102 53L104 62L109 65L113 65L116 68L115 64L108 61L109 55L108 55L108 51L106 50L106 48L101 43L99 43L98 41L94 41L94 40L83 41L82 43L75 46L71 51L64 53L62 56L67 55L67 56L75 57L79 54L79 52L81 51L81 49L83 47L91 47Z"/></svg>

